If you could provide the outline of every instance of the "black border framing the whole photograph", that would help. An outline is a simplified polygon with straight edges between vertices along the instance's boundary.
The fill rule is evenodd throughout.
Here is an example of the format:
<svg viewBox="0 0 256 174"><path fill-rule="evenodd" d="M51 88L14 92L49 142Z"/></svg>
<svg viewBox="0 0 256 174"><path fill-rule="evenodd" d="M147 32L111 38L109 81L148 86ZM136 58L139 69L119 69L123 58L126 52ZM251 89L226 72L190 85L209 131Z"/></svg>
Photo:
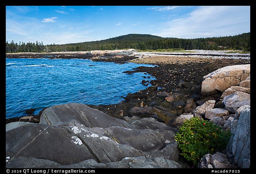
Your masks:
<svg viewBox="0 0 256 174"><path fill-rule="evenodd" d="M217 1L217 0L214 0L214 1L192 1L192 0L176 0L176 1L170 1L170 0L157 0L157 1L152 1L152 2L147 2L147 4L145 4L145 1L132 1L132 0L128 0L128 1L108 1L108 0L92 0L92 1L87 1L87 2L81 2L81 1L77 1L77 2L74 2L74 1L64 1L64 0L58 0L58 1L55 1L55 2L52 2L52 1L48 1L48 0L37 0L37 1L28 1L28 0L0 0L0 12L2 12L2 17L1 17L1 20L2 20L2 26L6 27L6 23L5 23L5 20L4 20L4 17L5 16L5 6L9 6L9 5L38 5L38 6L43 6L43 5L131 5L131 6L138 6L138 5L141 5L141 6L145 6L145 5L150 5L150 6L155 6L155 5L160 5L160 6L163 6L163 5L248 5L248 6L251 6L251 8L253 8L254 6L252 5L253 1L227 1L226 4L225 2L222 0L222 1ZM251 9L251 13L254 13L253 9ZM254 15L251 15L251 21L254 21ZM252 23L254 25L254 23ZM253 26L251 25L251 28ZM1 43L3 43L3 46L5 45L5 34L2 31L2 36L1 39L3 38L3 41ZM252 38L254 38L254 33L251 32L252 34ZM2 58L4 58L4 51L2 51ZM254 49L251 50L251 54L252 54L252 65L254 60ZM2 72L1 74L1 77L4 79L2 82L2 84L5 84L5 58L4 58L4 62L1 62L1 70L3 70L4 72ZM254 70L252 68L251 70L252 72L252 79L255 79L255 76L254 76ZM254 82L251 83L252 86L254 85ZM5 91L5 86L4 88L1 88L1 93L2 93L2 96L1 96L1 99L3 99L3 102L1 102L1 104L4 105L4 109L2 108L1 111L2 112L2 116L1 116L1 120L2 120L2 124L5 124L5 118L4 118L4 115L5 115L5 94L6 94L6 91ZM253 87L252 87L253 89ZM254 91L252 90L251 92L252 94L252 99L254 99L253 95L254 95ZM251 123L254 124L255 122L253 121L254 120L254 110L252 109L252 121ZM252 125L253 126L253 125ZM2 131L5 132L5 125L2 125L1 128L3 129ZM251 131L253 132L253 131ZM252 134L253 135L253 134ZM253 146L253 143L252 143L252 147ZM255 154L254 153L254 148L251 149L252 153L251 154ZM1 154L4 154L1 153ZM3 162L4 162L4 159L5 159L5 155L3 157ZM234 169L234 170L240 170L240 174L244 174L245 172L250 172L250 171L253 171L252 170L252 166L254 164L254 156L252 155L252 158L251 158L251 168L249 169ZM5 168L5 167L4 167ZM11 169L10 169L11 170ZM23 170L23 169L18 169L18 170ZM131 170L127 170L127 169L92 169L92 170L95 170L95 174L99 174L99 173L105 173L105 172L122 172L122 171L135 171L135 172L170 172L170 171L174 171L174 172L196 172L196 173L202 173L202 174L210 174L212 173L212 169L131 169ZM224 172L220 172L220 171L223 171L223 170L230 170L230 169L213 169L213 170L218 170L219 172L218 173L224 173ZM231 169L232 170L232 169ZM6 172L6 169L4 169L5 173ZM51 173L51 172L49 172ZM217 173L217 172L216 172Z"/></svg>

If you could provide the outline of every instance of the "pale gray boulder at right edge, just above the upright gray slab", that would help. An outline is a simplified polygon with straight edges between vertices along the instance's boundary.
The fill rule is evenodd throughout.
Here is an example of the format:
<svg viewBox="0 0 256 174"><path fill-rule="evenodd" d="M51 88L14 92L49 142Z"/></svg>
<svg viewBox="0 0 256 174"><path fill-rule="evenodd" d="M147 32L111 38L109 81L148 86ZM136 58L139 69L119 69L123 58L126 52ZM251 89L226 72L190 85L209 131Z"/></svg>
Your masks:
<svg viewBox="0 0 256 174"><path fill-rule="evenodd" d="M238 91L224 97L222 102L225 104L225 109L236 113L236 110L241 106L251 104L250 98L250 94Z"/></svg>

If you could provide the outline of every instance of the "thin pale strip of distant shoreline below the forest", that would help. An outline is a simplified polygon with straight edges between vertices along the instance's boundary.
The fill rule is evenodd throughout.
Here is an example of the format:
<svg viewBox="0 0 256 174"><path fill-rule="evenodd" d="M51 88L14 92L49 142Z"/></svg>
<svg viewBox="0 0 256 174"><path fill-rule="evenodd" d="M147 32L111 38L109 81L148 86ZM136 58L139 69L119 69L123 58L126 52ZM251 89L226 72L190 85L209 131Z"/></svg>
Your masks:
<svg viewBox="0 0 256 174"><path fill-rule="evenodd" d="M99 58L100 56L108 56L122 58L123 56L133 56L138 58L152 58L152 57L196 57L196 58L234 58L250 60L250 54L242 54L239 51L230 50L184 50L182 52L138 52L135 49L129 50L91 50L91 51L61 51L49 53L6 53L6 58ZM135 59L135 58L131 58ZM104 57L96 61L104 61ZM108 60L106 60L108 62ZM111 61L112 62L112 61ZM136 61L135 61L136 62ZM137 62L137 63L140 63Z"/></svg>

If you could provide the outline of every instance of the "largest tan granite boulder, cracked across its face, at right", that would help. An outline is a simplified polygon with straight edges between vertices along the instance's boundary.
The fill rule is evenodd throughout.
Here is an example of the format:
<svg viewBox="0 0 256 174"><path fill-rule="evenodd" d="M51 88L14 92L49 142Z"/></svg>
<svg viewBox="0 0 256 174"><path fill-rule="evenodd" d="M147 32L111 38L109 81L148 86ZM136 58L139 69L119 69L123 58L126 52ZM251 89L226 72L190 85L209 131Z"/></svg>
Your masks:
<svg viewBox="0 0 256 174"><path fill-rule="evenodd" d="M241 81L246 80L249 74L250 64L220 68L203 77L204 81L202 82L201 94L210 96L218 92L223 93L231 86L238 86Z"/></svg>

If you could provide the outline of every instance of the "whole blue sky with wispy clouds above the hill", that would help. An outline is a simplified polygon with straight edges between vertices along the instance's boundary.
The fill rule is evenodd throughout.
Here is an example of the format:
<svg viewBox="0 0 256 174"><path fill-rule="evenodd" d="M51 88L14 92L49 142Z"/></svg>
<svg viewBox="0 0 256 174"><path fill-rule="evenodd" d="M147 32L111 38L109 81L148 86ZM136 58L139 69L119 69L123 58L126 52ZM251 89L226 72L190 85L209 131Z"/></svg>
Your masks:
<svg viewBox="0 0 256 174"><path fill-rule="evenodd" d="M6 6L6 41L80 43L127 34L205 38L250 32L250 6Z"/></svg>

